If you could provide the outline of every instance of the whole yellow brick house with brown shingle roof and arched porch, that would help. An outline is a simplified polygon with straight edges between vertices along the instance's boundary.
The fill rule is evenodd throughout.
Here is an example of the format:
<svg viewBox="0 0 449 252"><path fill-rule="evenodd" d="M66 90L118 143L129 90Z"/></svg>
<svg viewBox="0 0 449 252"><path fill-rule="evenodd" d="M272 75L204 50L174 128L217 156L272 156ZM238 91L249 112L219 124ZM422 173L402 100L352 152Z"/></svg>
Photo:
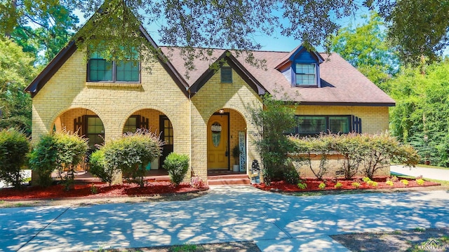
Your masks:
<svg viewBox="0 0 449 252"><path fill-rule="evenodd" d="M196 70L185 78L179 52L161 47L158 62L137 66L106 62L93 53L86 64L86 51L69 43L26 88L33 100L32 139L65 128L78 130L93 147L143 127L159 132L166 143L150 169L162 169L162 160L175 151L189 155L191 169L205 177L209 169L232 169L234 162L247 171L257 159L245 108L262 106L261 96L276 90L300 102L295 134L377 133L389 127L394 100L337 54L302 46L254 51L257 59L266 59L267 69L260 69L228 50L214 50L217 60L225 61L218 71L196 59ZM166 61L163 54L172 56ZM148 65L151 73L143 70ZM236 145L242 151L238 161L229 155Z"/></svg>

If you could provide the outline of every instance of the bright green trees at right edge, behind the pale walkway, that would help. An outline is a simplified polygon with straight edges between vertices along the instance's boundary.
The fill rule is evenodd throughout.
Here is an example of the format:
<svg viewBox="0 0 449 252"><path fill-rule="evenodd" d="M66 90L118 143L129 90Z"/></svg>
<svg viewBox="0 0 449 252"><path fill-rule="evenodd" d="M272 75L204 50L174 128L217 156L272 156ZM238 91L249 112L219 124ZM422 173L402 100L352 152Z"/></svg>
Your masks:
<svg viewBox="0 0 449 252"><path fill-rule="evenodd" d="M449 167L449 60L404 67L391 80L391 134L416 148L420 162Z"/></svg>

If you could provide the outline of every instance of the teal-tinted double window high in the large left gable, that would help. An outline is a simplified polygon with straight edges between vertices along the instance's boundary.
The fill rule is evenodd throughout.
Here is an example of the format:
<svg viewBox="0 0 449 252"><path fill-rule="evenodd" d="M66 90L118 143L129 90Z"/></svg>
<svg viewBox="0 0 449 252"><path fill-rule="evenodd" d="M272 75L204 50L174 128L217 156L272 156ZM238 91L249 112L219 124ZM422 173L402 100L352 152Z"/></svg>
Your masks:
<svg viewBox="0 0 449 252"><path fill-rule="evenodd" d="M125 61L108 62L100 53L91 52L88 61L87 80L95 82L139 82L140 62L137 52Z"/></svg>

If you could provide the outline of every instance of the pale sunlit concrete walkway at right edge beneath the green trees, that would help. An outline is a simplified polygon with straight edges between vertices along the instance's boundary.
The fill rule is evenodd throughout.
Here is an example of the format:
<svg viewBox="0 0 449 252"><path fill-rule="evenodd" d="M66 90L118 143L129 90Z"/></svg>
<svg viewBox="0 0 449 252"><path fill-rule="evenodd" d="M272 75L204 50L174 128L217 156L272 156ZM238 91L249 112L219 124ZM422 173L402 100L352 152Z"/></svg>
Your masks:
<svg viewBox="0 0 449 252"><path fill-rule="evenodd" d="M391 165L390 172L407 176L421 176L424 179L438 179L449 181L449 169L434 169L425 167L405 167L403 165Z"/></svg>

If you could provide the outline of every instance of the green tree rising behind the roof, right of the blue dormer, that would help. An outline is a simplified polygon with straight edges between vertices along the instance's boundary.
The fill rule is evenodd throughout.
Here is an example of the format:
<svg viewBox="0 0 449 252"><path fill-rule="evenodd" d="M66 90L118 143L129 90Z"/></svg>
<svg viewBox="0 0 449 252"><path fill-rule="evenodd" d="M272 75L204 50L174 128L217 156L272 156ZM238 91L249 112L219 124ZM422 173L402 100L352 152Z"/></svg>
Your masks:
<svg viewBox="0 0 449 252"><path fill-rule="evenodd" d="M387 44L384 22L376 13L362 17L365 22L356 28L344 27L331 36L332 50L361 71L382 90L388 92L386 81L398 71L399 60Z"/></svg>

